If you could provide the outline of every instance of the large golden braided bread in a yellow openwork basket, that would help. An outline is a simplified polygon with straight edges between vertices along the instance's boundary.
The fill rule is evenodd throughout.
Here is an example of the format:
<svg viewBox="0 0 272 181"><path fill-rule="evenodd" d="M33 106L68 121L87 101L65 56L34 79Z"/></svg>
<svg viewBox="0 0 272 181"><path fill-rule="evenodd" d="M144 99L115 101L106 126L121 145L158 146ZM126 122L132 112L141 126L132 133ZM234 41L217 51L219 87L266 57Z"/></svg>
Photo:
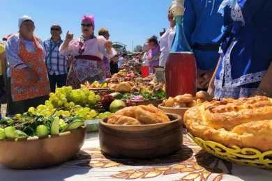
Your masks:
<svg viewBox="0 0 272 181"><path fill-rule="evenodd" d="M224 98L192 107L184 115L189 136L216 157L272 168L272 99Z"/></svg>

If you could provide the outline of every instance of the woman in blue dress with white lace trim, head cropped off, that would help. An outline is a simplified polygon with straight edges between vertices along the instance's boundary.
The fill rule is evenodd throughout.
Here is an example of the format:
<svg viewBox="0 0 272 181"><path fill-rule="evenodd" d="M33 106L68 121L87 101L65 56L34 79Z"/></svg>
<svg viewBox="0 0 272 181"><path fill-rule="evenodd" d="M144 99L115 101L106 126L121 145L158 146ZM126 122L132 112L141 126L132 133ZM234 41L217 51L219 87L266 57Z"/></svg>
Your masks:
<svg viewBox="0 0 272 181"><path fill-rule="evenodd" d="M209 93L214 97L272 95L272 1L225 0L219 13L224 16L222 43Z"/></svg>

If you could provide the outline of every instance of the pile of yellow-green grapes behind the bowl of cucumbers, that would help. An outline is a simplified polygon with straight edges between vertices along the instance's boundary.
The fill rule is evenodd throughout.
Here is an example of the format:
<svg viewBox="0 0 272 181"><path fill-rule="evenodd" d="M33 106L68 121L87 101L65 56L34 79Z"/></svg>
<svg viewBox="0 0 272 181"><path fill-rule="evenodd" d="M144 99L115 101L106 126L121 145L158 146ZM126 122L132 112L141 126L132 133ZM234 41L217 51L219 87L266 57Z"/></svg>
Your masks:
<svg viewBox="0 0 272 181"><path fill-rule="evenodd" d="M96 95L89 89L73 90L72 86L56 88L56 93L50 93L50 99L44 105L39 105L36 109L29 108L29 113L42 114L43 116L70 117L82 115L86 120L100 119L110 116L112 113L98 113L94 108L99 109L98 102L100 95ZM93 109L91 109L93 108Z"/></svg>

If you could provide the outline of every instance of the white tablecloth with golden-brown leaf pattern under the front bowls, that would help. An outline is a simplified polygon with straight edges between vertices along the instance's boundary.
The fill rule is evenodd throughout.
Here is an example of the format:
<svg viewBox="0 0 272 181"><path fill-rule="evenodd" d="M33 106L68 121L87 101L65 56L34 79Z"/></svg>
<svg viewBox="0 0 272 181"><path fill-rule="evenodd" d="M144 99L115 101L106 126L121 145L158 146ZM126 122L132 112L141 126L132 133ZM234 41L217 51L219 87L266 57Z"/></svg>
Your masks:
<svg viewBox="0 0 272 181"><path fill-rule="evenodd" d="M70 162L28 171L0 165L0 180L272 180L272 170L240 166L213 157L194 143L185 129L183 132L183 150L144 160L103 155L98 132L89 133L82 150Z"/></svg>

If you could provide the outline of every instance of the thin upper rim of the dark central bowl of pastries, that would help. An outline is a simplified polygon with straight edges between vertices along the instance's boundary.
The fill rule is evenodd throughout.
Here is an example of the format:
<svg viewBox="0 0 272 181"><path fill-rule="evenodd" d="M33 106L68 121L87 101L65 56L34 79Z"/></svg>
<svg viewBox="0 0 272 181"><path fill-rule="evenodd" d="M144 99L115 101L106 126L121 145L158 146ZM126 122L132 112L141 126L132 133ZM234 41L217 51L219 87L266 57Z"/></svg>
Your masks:
<svg viewBox="0 0 272 181"><path fill-rule="evenodd" d="M166 115L169 116L174 116L176 117L175 120L172 120L170 122L167 123L157 123L157 124L149 124L149 125L112 125L112 124L108 124L105 123L104 120L107 119L107 117L102 118L99 120L99 124L104 125L106 127L130 127L130 128L136 128L136 127L153 127L153 126L157 126L157 125L169 125L169 124L173 124L178 122L179 120L182 120L181 116L179 116L178 114L175 113L166 113Z"/></svg>

